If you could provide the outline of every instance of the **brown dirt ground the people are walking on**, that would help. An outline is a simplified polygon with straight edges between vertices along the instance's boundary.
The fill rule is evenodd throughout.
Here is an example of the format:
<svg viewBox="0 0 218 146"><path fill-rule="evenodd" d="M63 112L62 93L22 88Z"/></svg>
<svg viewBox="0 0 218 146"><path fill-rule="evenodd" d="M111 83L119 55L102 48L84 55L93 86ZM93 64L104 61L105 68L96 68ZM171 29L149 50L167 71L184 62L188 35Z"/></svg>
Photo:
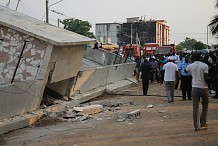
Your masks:
<svg viewBox="0 0 218 146"><path fill-rule="evenodd" d="M141 96L141 85L103 95L95 100L116 100L121 105L104 110L83 122L41 121L0 137L5 146L218 146L218 100L210 98L208 130L195 132L192 101L167 103L164 85L152 83L150 96ZM131 104L130 104L131 103ZM152 104L153 108L147 108ZM141 110L141 118L116 122L114 112Z"/></svg>

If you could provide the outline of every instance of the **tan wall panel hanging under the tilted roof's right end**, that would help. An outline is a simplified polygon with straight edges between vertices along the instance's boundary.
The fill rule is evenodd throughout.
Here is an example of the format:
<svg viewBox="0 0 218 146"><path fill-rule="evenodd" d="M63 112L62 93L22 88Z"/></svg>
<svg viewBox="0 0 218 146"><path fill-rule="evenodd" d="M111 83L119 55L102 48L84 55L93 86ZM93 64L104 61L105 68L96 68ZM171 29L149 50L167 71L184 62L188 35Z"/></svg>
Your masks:
<svg viewBox="0 0 218 146"><path fill-rule="evenodd" d="M80 70L85 45L54 47L49 62L51 83L75 77Z"/></svg>

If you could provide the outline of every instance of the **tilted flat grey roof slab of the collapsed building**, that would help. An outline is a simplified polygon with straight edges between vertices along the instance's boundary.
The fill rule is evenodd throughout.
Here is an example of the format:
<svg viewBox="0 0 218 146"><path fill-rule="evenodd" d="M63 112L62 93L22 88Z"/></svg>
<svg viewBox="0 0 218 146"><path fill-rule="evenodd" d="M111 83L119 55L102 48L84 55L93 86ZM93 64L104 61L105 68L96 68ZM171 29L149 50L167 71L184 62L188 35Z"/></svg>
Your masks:
<svg viewBox="0 0 218 146"><path fill-rule="evenodd" d="M49 25L35 18L0 6L0 24L55 46L94 43L94 39Z"/></svg>

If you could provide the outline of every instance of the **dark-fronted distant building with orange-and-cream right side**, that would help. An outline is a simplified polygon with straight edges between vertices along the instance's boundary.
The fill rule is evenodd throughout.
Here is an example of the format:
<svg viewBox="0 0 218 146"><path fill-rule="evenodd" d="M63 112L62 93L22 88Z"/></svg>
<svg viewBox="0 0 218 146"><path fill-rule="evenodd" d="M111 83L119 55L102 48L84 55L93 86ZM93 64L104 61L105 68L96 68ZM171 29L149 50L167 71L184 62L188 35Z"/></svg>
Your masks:
<svg viewBox="0 0 218 146"><path fill-rule="evenodd" d="M135 21L123 23L121 41L127 44L156 43L169 45L170 27L165 20Z"/></svg>

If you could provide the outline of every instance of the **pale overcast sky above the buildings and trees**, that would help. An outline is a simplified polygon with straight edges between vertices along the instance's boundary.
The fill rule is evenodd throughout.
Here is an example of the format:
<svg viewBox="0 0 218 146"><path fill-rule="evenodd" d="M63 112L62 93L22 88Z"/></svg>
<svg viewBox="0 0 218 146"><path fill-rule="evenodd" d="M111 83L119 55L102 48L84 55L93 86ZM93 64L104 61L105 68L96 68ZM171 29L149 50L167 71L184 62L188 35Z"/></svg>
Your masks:
<svg viewBox="0 0 218 146"><path fill-rule="evenodd" d="M17 11L45 20L46 0L21 0ZM49 0L49 5L59 0ZM18 0L0 0L0 5L15 10ZM63 0L50 7L63 15L50 12L49 21L57 26L57 19L77 18L89 21L94 31L96 23L126 22L128 17L164 19L171 27L171 43L185 37L207 43L207 25L218 13L216 0ZM95 33L95 32L94 32ZM216 43L209 32L209 45Z"/></svg>

